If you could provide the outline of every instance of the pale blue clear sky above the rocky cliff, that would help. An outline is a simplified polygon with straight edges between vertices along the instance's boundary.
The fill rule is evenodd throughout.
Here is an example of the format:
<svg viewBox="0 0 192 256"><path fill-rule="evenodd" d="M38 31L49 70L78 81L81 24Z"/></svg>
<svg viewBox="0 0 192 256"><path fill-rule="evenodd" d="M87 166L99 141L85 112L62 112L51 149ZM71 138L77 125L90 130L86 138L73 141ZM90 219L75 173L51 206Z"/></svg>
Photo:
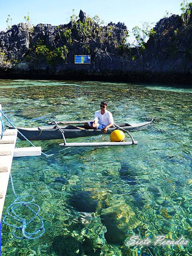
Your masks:
<svg viewBox="0 0 192 256"><path fill-rule="evenodd" d="M72 9L79 15L82 9L91 17L99 15L105 24L124 22L131 30L141 22L156 23L168 11L180 14L182 0L0 0L0 31L6 30L6 18L12 17L12 25L24 21L29 12L31 23L65 24L70 21Z"/></svg>

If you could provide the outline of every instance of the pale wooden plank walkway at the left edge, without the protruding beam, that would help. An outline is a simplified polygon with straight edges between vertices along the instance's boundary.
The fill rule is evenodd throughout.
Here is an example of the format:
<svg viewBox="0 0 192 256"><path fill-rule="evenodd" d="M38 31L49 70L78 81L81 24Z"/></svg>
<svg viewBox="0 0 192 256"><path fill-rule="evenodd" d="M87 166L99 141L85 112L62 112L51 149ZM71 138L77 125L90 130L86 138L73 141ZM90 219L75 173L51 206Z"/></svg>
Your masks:
<svg viewBox="0 0 192 256"><path fill-rule="evenodd" d="M7 129L0 140L0 219L3 212L16 140L16 129Z"/></svg>

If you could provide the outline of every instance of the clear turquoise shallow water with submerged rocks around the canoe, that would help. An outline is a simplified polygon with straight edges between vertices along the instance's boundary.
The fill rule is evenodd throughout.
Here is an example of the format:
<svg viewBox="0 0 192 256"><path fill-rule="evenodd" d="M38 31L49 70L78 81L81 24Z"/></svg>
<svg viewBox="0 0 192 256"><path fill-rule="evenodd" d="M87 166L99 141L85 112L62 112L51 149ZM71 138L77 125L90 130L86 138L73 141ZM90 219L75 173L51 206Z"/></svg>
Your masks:
<svg viewBox="0 0 192 256"><path fill-rule="evenodd" d="M14 158L18 195L41 207L46 233L15 240L3 225L2 255L189 255L183 246L127 247L133 235L190 239L192 90L146 84L1 80L0 103L18 126L91 119L102 99L116 122L155 121L132 135L138 145L70 148L54 157ZM108 135L95 141L109 140ZM90 138L70 141L89 141ZM38 141L44 152L61 140ZM18 146L28 145L17 142ZM4 212L14 196L9 184Z"/></svg>

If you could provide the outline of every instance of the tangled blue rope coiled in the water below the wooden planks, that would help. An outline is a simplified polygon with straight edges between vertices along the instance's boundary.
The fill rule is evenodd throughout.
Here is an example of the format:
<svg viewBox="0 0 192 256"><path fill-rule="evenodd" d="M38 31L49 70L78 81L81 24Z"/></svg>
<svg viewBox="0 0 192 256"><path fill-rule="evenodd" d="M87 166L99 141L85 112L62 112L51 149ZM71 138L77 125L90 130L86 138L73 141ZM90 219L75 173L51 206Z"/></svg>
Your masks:
<svg viewBox="0 0 192 256"><path fill-rule="evenodd" d="M12 180L12 175L10 173L10 180L11 180L11 184L12 184L12 190L13 190L13 193L15 195L15 200L13 201L13 203L7 207L6 209L6 215L5 217L3 218L3 223L10 226L10 227L14 227L15 229L12 231L12 235L16 238L16 239L38 239L40 238L44 233L45 233L45 228L44 228L44 222L43 222L43 219L41 218L41 216L38 214L40 212L40 207L38 206L38 204L34 204L35 202L35 198L34 196L32 195L21 195L19 197L17 197L17 194L15 193L15 189L14 189L14 185L13 185L13 180ZM30 198L31 197L31 200L30 201L22 201L23 198ZM33 206L33 207L36 207L37 210L35 211L34 209L32 209L30 206ZM27 209L29 209L33 214L34 216L29 220L29 221L26 221L25 218L22 218L20 217L16 212L15 212L15 209L17 208L20 208L20 207L26 207ZM12 214L11 214L12 213ZM15 219L16 221L20 222L20 226L17 227L13 224L9 224L8 222L6 222L6 218L7 217L11 217L13 219ZM33 233L29 233L26 231L26 228L27 228L27 225L29 225L34 219L35 217L38 217L41 221L41 227L38 228L37 230L35 230L35 232ZM22 233L22 236L17 236L15 234L15 232L17 230L20 230L21 233ZM33 237L34 235L38 235L38 236L35 236Z"/></svg>

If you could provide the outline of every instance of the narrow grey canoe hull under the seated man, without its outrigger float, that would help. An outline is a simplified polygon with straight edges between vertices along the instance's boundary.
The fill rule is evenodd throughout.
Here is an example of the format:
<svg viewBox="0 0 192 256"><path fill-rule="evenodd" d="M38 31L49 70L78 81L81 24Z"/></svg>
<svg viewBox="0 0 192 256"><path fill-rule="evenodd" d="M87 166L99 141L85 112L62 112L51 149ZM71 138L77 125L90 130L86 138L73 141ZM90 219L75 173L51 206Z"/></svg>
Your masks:
<svg viewBox="0 0 192 256"><path fill-rule="evenodd" d="M64 131L65 138L75 138L75 137L88 137L88 136L96 136L102 134L101 129L86 129L84 125L75 126L74 124L82 124L87 121L66 121L66 122L57 122L59 128ZM152 120L149 122L141 122L136 124L128 124L128 123L119 123L120 127L125 129L126 131L140 131L146 129ZM59 129L53 125L52 122L48 122L49 126L40 126L38 128L23 128L17 127L17 130L20 131L28 140L56 140L63 139L63 135ZM65 125L64 125L65 124ZM73 125L72 125L73 124ZM9 129L13 129L12 126L8 126ZM108 128L108 134L111 134L112 131L116 130L116 127ZM17 133L17 137L20 140L25 140L19 133Z"/></svg>

